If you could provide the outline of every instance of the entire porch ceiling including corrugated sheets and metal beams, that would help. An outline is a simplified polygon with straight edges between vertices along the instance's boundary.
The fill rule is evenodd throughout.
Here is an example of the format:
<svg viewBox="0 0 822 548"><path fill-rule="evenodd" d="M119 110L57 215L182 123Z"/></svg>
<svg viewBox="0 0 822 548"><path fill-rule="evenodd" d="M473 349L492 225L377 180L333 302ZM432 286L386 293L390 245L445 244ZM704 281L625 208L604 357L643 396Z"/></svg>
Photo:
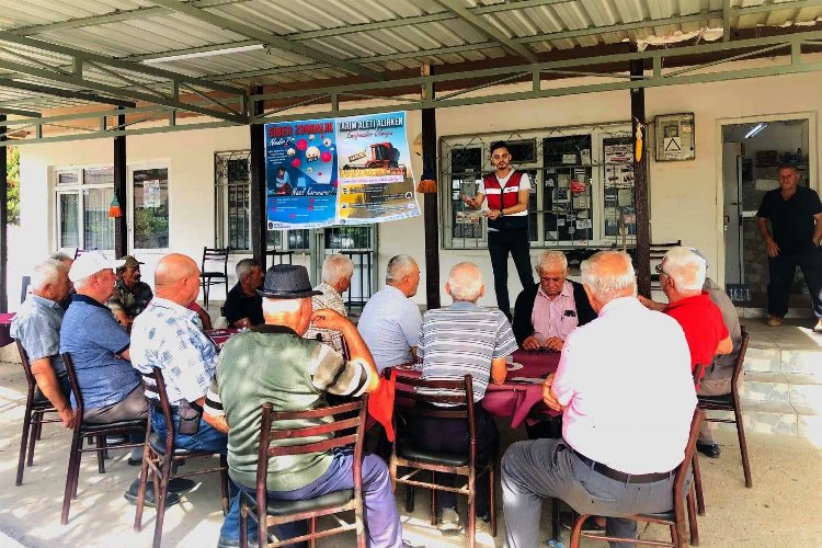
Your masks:
<svg viewBox="0 0 822 548"><path fill-rule="evenodd" d="M822 69L822 0L0 0L0 114L27 141ZM716 69L765 56L787 61ZM603 80L543 83L574 76Z"/></svg>

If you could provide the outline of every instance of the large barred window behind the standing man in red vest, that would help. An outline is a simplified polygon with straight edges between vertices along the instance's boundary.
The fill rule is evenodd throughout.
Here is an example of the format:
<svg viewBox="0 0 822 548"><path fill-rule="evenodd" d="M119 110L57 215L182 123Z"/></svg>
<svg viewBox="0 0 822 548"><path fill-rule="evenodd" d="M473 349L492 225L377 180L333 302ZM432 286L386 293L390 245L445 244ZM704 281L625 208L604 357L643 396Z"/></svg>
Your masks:
<svg viewBox="0 0 822 548"><path fill-rule="evenodd" d="M439 141L443 247L486 248L487 222L463 204L493 173L489 147L509 144L512 167L528 174L528 232L535 248L636 243L630 126L529 129L443 137Z"/></svg>

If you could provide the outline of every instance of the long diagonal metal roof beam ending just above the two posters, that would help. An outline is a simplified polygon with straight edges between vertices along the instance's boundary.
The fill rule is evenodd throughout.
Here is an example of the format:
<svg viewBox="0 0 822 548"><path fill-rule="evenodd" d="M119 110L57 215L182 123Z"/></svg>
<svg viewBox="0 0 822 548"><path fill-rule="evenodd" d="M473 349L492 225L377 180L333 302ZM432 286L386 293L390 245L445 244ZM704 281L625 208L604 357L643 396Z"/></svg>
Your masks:
<svg viewBox="0 0 822 548"><path fill-rule="evenodd" d="M184 15L190 16L192 19L196 19L197 21L203 21L205 23L217 26L219 28L225 28L227 31L242 34L243 36L249 37L249 38L255 38L255 39L262 41L269 46L285 49L287 52L292 52L297 55L301 55L304 57L308 57L315 60L321 60L321 61L328 62L329 65L334 66L341 70L345 70L346 72L352 72L354 75L366 77L372 80L384 79L383 75L380 75L379 72L375 72L374 70L367 69L365 67L361 67L356 64L350 62L344 59L340 59L332 55L324 54L318 49L315 49L313 47L306 46L304 44L295 44L294 42L286 39L282 36L278 36L276 34L261 31L253 26L247 25L244 23L240 23L238 21L232 21L221 15L216 15L214 13L202 10L199 8L194 8L193 5L180 2L179 0L151 0L151 1L164 8L168 8L170 10L174 10L180 13L183 13Z"/></svg>

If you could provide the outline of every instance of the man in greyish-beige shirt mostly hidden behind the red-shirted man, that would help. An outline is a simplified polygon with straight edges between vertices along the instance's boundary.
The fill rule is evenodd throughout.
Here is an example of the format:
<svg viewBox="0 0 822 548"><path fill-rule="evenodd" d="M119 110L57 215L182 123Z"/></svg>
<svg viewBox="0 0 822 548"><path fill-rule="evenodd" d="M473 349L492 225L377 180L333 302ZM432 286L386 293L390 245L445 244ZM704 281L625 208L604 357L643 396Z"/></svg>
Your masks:
<svg viewBox="0 0 822 548"><path fill-rule="evenodd" d="M696 250L694 251L696 252ZM739 357L739 351L742 345L742 328L739 323L737 307L733 306L730 297L728 297L728 294L724 293L721 287L719 287L711 278L706 277L705 284L703 284L703 292L708 293L710 300L717 305L722 312L722 321L728 328L728 332L731 334L733 350L729 354L718 354L713 357L713 362L705 369L705 377L703 377L703 381L699 384L697 393L699 393L699 396L724 396L726 393L731 392L733 369L737 366L737 357ZM662 302L657 302L641 296L639 299L652 310L661 311L665 309L665 305ZM741 376L740 381L743 379L744 376ZM696 448L710 458L717 458L720 454L715 432L716 425L712 422L703 421L703 426L699 429L699 439L696 443Z"/></svg>

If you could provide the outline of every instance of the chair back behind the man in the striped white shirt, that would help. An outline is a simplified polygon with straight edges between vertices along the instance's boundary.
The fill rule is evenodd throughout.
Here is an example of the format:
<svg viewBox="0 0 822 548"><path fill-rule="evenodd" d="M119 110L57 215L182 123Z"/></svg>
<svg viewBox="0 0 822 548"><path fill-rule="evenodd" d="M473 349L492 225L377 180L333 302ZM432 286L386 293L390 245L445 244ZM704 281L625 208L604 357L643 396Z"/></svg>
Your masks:
<svg viewBox="0 0 822 548"><path fill-rule="evenodd" d="M470 375L466 375L458 380L398 377L393 401L395 416L399 414L407 419L432 416L468 421L470 445L468 457L472 465L476 463L477 432L473 419L473 387ZM418 406L416 403L431 403L431 406ZM436 404L448 407L436 407Z"/></svg>

